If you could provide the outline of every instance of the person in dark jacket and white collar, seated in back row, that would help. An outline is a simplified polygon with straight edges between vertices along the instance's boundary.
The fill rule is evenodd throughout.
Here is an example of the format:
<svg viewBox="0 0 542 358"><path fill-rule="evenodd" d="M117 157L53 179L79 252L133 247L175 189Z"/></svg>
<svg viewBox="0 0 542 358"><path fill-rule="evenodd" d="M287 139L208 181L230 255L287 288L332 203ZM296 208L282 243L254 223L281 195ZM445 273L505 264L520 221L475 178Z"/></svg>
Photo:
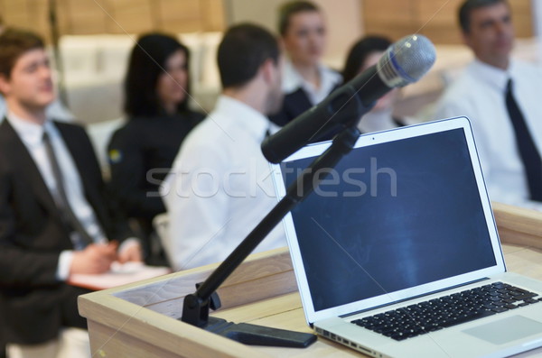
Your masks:
<svg viewBox="0 0 542 358"><path fill-rule="evenodd" d="M285 3L279 9L278 31L288 60L285 63L282 109L271 121L283 126L319 104L341 85L341 75L321 63L326 28L320 9L307 1Z"/></svg>

